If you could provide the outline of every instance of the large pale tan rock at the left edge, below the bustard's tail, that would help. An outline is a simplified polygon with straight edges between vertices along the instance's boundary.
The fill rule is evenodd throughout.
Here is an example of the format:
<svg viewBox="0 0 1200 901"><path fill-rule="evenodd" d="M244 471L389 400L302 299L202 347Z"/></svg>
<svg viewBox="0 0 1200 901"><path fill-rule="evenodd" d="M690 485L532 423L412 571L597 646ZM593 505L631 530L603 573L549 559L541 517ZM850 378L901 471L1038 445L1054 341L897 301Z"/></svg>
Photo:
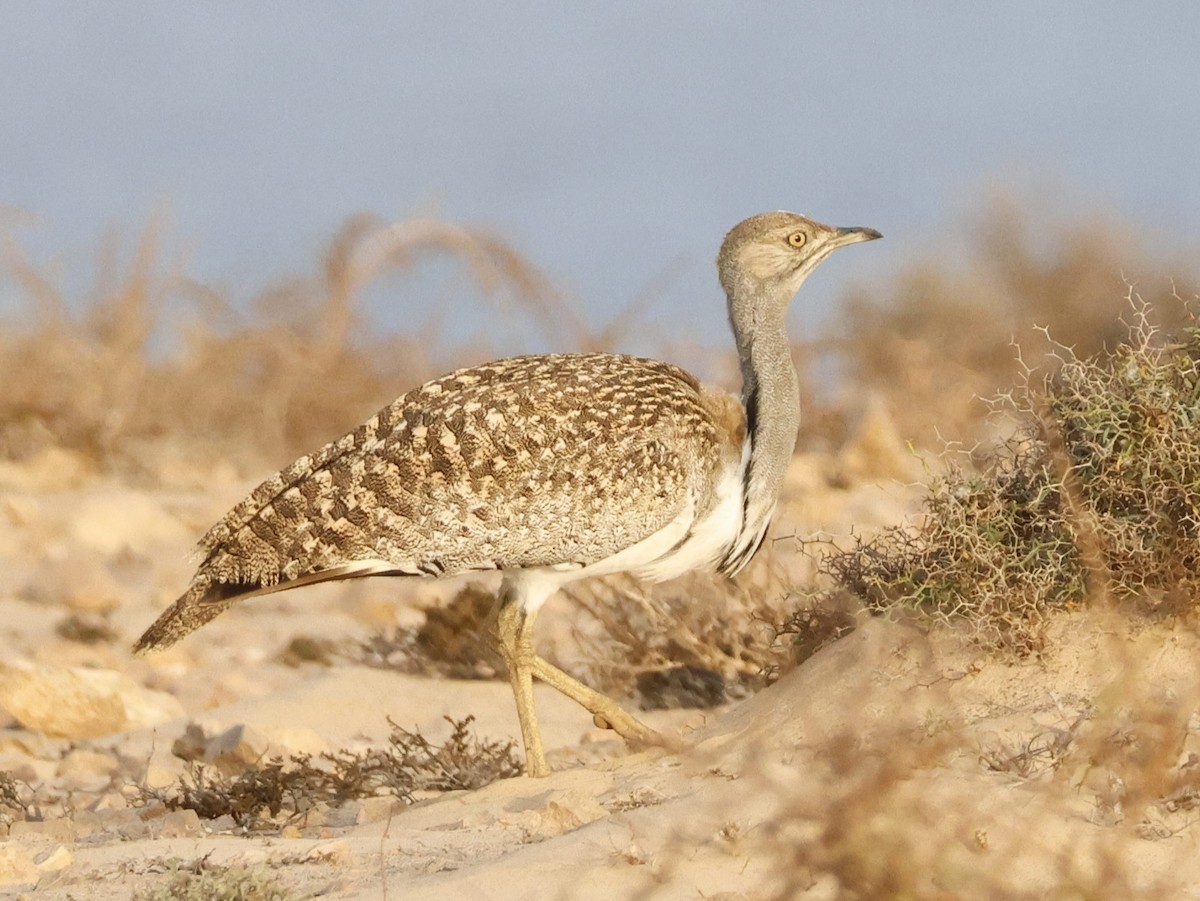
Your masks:
<svg viewBox="0 0 1200 901"><path fill-rule="evenodd" d="M0 663L0 707L35 732L95 738L184 715L178 699L113 669Z"/></svg>

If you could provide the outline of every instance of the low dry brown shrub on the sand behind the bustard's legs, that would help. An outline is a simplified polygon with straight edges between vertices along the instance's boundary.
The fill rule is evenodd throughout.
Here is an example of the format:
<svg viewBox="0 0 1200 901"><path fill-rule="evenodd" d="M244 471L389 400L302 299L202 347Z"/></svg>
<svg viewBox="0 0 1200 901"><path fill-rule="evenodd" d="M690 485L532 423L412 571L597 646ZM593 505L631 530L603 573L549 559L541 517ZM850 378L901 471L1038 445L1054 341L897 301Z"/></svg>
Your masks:
<svg viewBox="0 0 1200 901"><path fill-rule="evenodd" d="M780 635L804 629L804 641L812 639L797 615L776 625L786 602L778 583L722 582L712 573L664 585L610 577L566 593L578 611L578 659L554 662L605 692L635 696L643 709L712 708L744 697L798 662L798 653L808 656L803 641ZM420 626L377 633L343 654L409 673L503 679L504 661L487 635L494 606L492 591L468 584L426 611Z"/></svg>

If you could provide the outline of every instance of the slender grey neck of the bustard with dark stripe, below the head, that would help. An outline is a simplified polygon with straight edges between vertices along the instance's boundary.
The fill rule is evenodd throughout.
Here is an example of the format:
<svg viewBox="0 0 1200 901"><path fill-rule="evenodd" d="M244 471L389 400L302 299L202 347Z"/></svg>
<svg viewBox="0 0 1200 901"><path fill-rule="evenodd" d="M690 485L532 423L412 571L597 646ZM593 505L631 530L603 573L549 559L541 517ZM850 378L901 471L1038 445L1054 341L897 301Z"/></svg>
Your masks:
<svg viewBox="0 0 1200 901"><path fill-rule="evenodd" d="M758 549L796 450L800 388L787 338L790 300L791 296L754 293L730 296L730 322L742 365L742 401L750 451L742 474L742 530L722 566L731 575Z"/></svg>

